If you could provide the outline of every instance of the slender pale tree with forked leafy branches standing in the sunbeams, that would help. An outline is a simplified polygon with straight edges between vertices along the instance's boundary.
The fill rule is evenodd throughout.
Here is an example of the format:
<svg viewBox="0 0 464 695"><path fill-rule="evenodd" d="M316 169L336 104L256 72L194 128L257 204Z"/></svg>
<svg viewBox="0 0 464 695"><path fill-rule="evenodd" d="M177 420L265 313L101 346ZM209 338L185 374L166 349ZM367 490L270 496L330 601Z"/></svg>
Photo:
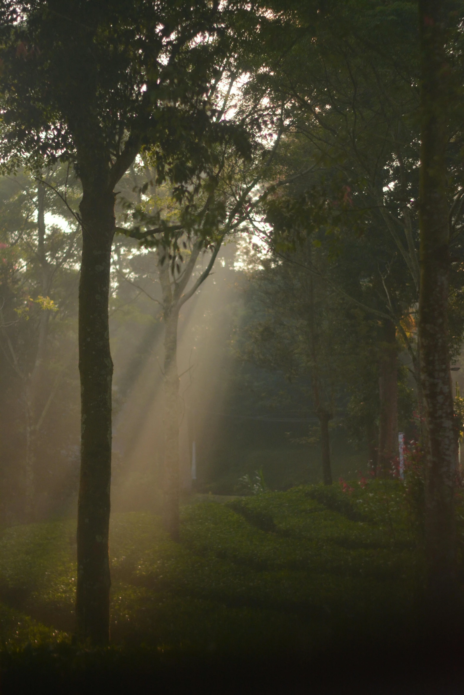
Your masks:
<svg viewBox="0 0 464 695"><path fill-rule="evenodd" d="M230 87L221 108L218 108L219 114L227 109L233 81L234 75L229 81ZM248 122L250 116L243 116L239 109L238 118L241 126L248 125L247 130L251 136L253 124ZM272 118L269 122L272 122ZM167 195L166 190L163 192L156 188L154 195L145 197L142 202L141 191L147 190L150 183L153 186L153 177L150 177L149 167L139 167L138 174L142 181L138 181L134 187L134 192L138 194L138 204L132 213L132 221L138 222L138 226L132 229L118 228L128 236L141 240L141 245L154 247L156 250L157 278L161 288L161 297L157 301L161 305L164 324L163 524L176 541L179 539L180 493L177 370L179 312L211 273L223 241L240 230L266 197L268 191L261 183L271 167L278 142L279 136L269 147L266 140L259 141L257 133L254 133L250 156L248 161L243 161L234 142L226 139L221 147L215 149L216 166L210 179L205 180L200 176L197 186L180 204L175 197ZM127 202L125 207L127 208ZM203 259L208 251L211 256L206 267L195 273L199 259Z"/></svg>

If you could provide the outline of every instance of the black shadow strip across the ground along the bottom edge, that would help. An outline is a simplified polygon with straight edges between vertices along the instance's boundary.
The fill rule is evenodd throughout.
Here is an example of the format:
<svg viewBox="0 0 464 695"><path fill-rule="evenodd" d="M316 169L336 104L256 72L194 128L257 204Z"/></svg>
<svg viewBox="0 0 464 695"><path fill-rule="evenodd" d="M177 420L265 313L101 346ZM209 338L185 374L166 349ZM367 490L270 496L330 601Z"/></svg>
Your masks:
<svg viewBox="0 0 464 695"><path fill-rule="evenodd" d="M201 695L458 695L462 630L346 634L312 653L205 654L146 647L86 650L62 643L1 655L2 693Z"/></svg>

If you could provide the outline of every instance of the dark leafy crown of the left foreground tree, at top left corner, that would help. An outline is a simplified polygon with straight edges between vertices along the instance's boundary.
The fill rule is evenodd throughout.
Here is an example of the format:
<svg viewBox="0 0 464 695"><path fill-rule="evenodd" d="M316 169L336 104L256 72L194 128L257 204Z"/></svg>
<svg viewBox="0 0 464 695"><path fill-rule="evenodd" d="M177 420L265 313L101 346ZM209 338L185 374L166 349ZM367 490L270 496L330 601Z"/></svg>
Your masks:
<svg viewBox="0 0 464 695"><path fill-rule="evenodd" d="M182 197L199 172L209 172L214 143L249 151L244 129L217 117L216 102L221 78L243 70L241 47L259 31L259 15L246 3L118 1L109 8L73 0L65 12L46 1L8 5L4 168L24 158L34 166L59 159L76 165L84 188L112 191L145 149L158 181L169 178Z"/></svg>

